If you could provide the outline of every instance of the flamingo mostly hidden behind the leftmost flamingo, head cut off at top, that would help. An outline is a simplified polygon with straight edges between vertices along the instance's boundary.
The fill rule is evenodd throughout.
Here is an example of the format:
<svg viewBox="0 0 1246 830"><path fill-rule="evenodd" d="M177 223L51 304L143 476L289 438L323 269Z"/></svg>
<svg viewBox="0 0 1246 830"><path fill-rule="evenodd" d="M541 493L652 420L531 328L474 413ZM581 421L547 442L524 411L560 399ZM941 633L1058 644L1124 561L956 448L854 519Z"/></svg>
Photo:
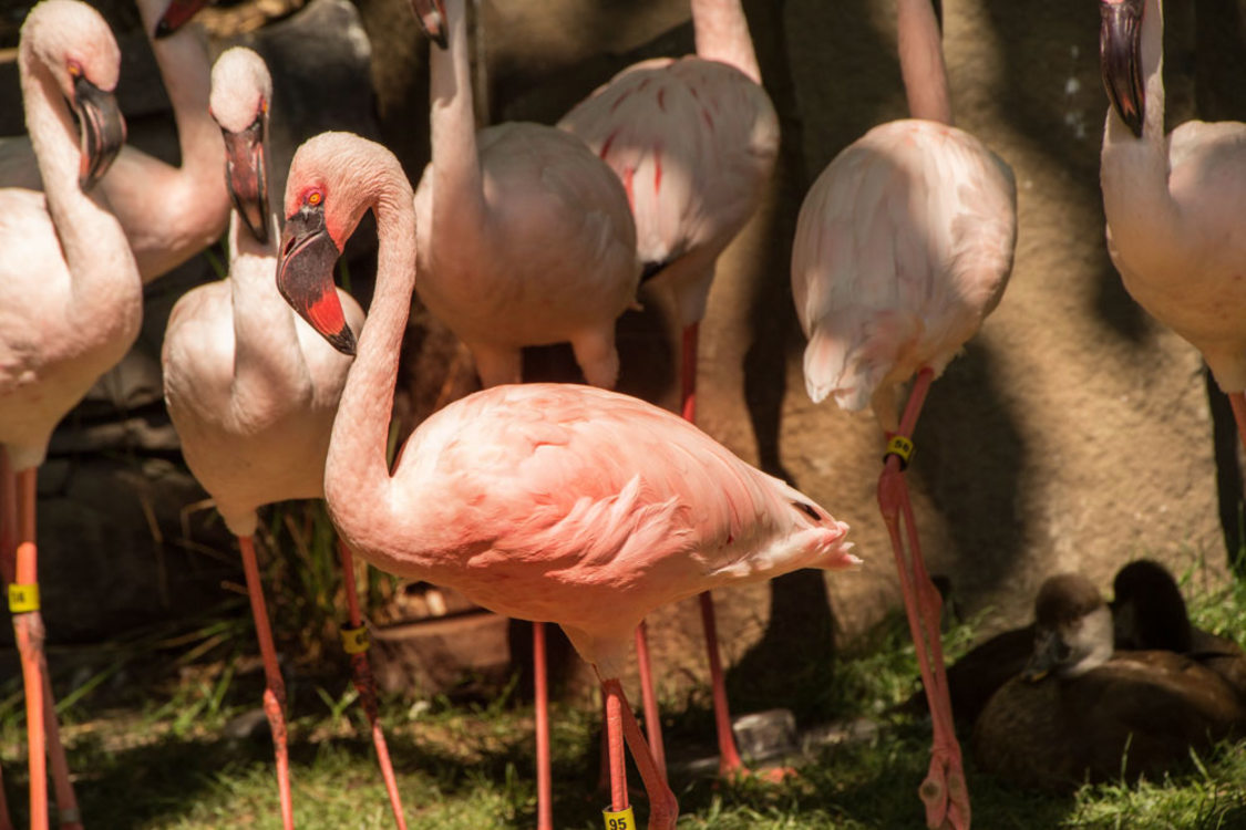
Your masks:
<svg viewBox="0 0 1246 830"><path fill-rule="evenodd" d="M221 133L208 117L209 66L202 36L192 30L152 36L162 30L164 6L173 15L184 0L136 2L173 105L182 166L172 167L127 144L100 187L126 229L143 282L150 282L221 238L229 195L221 180ZM0 139L0 185L42 188L27 138Z"/></svg>

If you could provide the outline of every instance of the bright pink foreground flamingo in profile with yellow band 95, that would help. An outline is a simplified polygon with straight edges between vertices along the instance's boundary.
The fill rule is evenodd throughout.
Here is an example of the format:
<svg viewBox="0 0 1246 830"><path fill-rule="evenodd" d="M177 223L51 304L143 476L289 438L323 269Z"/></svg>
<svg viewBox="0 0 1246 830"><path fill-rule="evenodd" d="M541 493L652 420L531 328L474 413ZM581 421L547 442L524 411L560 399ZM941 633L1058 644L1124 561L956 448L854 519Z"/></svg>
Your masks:
<svg viewBox="0 0 1246 830"><path fill-rule="evenodd" d="M385 445L416 281L410 184L379 144L325 133L295 153L285 193L278 285L339 348L354 351L355 340L334 258L369 209L380 240L376 294L325 463L338 531L381 570L561 625L607 697L612 810L628 809L625 735L649 826L673 828L674 795L618 681L637 625L711 587L854 565L847 525L678 416L581 385L462 398L415 431L391 472Z"/></svg>

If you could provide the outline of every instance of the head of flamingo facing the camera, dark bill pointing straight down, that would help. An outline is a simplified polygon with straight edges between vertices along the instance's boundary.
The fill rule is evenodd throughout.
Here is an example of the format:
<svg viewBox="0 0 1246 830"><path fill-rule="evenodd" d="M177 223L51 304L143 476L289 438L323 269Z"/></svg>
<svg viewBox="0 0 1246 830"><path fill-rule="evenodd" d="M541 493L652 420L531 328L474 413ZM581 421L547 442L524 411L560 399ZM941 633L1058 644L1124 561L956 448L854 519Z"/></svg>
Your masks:
<svg viewBox="0 0 1246 830"><path fill-rule="evenodd" d="M264 138L273 80L264 60L235 46L212 67L208 112L226 143L226 182L234 209L259 243L268 241L268 164Z"/></svg>

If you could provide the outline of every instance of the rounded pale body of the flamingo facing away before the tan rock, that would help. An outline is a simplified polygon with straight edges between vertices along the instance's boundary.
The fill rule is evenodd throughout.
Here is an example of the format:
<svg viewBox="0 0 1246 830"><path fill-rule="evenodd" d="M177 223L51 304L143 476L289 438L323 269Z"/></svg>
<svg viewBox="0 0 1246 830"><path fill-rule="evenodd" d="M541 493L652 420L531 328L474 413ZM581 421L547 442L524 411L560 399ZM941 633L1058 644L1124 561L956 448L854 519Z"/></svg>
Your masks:
<svg viewBox="0 0 1246 830"><path fill-rule="evenodd" d="M973 136L905 119L841 152L801 207L792 245L796 312L816 402L873 403L946 368L996 307L1012 271L1012 170Z"/></svg>

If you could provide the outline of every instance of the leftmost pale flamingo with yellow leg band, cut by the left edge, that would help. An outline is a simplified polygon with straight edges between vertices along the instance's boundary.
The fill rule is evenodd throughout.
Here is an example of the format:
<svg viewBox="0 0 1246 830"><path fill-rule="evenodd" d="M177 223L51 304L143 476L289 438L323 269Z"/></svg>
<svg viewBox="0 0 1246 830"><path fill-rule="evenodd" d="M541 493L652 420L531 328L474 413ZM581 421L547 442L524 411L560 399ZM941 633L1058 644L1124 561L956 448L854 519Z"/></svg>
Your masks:
<svg viewBox="0 0 1246 830"><path fill-rule="evenodd" d="M0 447L15 479L0 489L16 553L0 551L21 651L31 826L47 828L45 728L62 828L81 828L60 747L44 657L35 477L56 423L138 336L142 284L125 231L92 188L125 142L121 52L103 17L45 0L21 27L17 68L26 129L45 193L0 189ZM77 116L75 124L74 113ZM16 559L14 564L12 560ZM46 723L45 723L46 722Z"/></svg>

